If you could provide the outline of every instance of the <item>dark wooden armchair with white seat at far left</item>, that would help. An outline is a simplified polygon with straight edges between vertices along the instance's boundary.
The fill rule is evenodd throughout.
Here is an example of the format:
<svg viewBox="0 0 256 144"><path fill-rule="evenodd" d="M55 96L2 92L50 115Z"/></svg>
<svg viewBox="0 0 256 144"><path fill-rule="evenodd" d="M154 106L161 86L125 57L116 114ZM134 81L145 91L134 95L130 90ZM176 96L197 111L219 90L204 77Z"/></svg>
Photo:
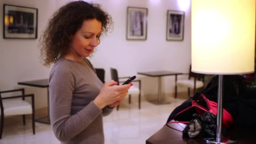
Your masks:
<svg viewBox="0 0 256 144"><path fill-rule="evenodd" d="M9 92L15 92L15 91L21 91L22 95L20 96L8 96L3 97L1 96L1 93L9 93ZM31 97L32 99L32 105L29 104L25 100L25 97ZM22 98L16 99L16 98ZM15 99L15 100L8 100L4 101L6 99ZM32 128L33 128L33 134L35 134L35 107L34 107L34 94L24 94L24 88L16 89L16 90L10 90L10 91L0 91L0 110L1 110L1 129L0 129L0 139L2 139L3 134L3 126L4 126L4 117L5 116L12 116L12 115L22 115L23 117L23 125L26 124L25 115L32 114Z"/></svg>

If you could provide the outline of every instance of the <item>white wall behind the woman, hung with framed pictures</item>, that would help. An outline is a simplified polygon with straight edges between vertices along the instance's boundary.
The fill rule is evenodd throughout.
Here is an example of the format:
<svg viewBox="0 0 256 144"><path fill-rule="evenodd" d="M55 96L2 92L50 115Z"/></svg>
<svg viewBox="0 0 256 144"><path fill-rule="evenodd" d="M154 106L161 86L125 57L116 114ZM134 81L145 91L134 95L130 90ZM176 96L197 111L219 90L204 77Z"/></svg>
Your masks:
<svg viewBox="0 0 256 144"><path fill-rule="evenodd" d="M0 16L3 3L38 8L38 37L46 23L61 5L70 0L0 0ZM101 39L98 50L91 58L94 67L106 70L106 81L110 80L110 67L118 69L119 76L136 75L137 72L170 70L188 72L191 53L190 0L87 0L99 3L114 20L114 29ZM183 7L179 2L184 2ZM189 5L188 8L186 5ZM126 40L127 6L148 8L147 40ZM182 6L182 5L181 5ZM183 41L166 41L167 10L185 11ZM3 19L0 19L0 34L3 33ZM48 78L50 68L39 62L38 40L15 40L0 37L0 89L22 87L19 81ZM142 94L157 93L157 78L137 75L142 80ZM180 76L181 78L184 78ZM164 77L163 91L174 91L174 77ZM180 89L179 91L183 91ZM186 90L186 89L185 89ZM45 107L46 89L26 87L26 93L35 93L36 108Z"/></svg>

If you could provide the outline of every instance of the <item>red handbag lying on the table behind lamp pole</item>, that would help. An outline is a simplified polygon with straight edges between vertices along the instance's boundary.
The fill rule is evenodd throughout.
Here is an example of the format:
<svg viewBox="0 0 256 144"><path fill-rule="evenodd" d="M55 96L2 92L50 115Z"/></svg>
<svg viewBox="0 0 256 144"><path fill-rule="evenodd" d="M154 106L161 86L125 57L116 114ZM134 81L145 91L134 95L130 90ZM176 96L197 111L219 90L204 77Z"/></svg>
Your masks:
<svg viewBox="0 0 256 144"><path fill-rule="evenodd" d="M198 98L198 100L192 100L191 101L192 105L190 107L187 107L185 109L183 109L181 112L177 113L173 120L176 120L177 117L179 117L179 115L183 114L191 109L195 110L195 112L199 115L203 115L205 112L211 112L213 113L213 115L217 115L217 111L218 111L218 104L214 101L210 101L209 99L207 99L203 94L201 94ZM190 117L190 116L189 116ZM192 115L191 115L192 118ZM227 128L229 125L232 125L233 122L233 118L232 116L229 114L229 112L227 112L226 109L223 108L223 120L222 120L222 124L224 128ZM169 123L189 123L189 122L169 122Z"/></svg>

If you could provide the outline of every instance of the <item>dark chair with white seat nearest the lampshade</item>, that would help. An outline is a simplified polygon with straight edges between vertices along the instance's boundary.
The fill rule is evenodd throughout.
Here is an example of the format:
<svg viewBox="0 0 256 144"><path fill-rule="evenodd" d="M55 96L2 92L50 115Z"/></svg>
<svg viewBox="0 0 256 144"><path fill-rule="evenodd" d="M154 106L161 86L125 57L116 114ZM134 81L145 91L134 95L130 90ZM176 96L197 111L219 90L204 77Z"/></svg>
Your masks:
<svg viewBox="0 0 256 144"><path fill-rule="evenodd" d="M190 79L194 77L194 79ZM188 97L190 97L190 88L194 88L194 95L197 88L203 88L205 75L191 72L191 65L189 69L188 80L177 80L175 83L175 99L177 98L177 85L188 87Z"/></svg>

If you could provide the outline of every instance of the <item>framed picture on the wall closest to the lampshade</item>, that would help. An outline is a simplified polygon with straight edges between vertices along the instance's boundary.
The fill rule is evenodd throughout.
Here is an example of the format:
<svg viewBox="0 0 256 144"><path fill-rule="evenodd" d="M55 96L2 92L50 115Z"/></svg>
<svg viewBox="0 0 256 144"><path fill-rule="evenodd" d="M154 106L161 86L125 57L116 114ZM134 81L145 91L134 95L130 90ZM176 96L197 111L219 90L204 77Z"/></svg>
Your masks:
<svg viewBox="0 0 256 144"><path fill-rule="evenodd" d="M184 15L183 11L167 11L166 40L183 40Z"/></svg>

